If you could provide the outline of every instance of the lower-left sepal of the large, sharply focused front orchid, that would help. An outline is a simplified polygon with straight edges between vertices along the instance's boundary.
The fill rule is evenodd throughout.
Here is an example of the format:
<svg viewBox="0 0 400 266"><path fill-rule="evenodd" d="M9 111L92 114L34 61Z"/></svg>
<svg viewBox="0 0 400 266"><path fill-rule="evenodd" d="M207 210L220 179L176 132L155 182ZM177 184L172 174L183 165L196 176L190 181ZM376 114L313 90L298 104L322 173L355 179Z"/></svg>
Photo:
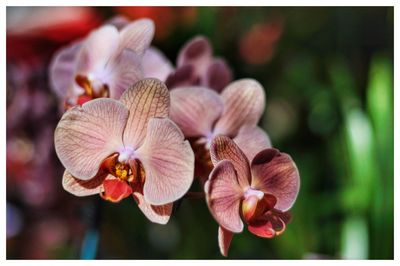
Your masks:
<svg viewBox="0 0 400 266"><path fill-rule="evenodd" d="M64 171L62 186L66 191L75 196L90 196L104 191L102 184L106 177L107 174L102 173L84 181L73 177L68 171Z"/></svg>

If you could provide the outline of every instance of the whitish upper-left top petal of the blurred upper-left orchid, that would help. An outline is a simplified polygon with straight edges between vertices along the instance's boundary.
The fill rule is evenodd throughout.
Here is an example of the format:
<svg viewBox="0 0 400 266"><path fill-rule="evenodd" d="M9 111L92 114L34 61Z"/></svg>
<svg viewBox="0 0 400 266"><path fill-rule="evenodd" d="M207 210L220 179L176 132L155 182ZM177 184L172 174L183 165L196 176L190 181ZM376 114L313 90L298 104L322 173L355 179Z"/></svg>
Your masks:
<svg viewBox="0 0 400 266"><path fill-rule="evenodd" d="M78 55L78 74L101 71L117 52L118 43L119 33L114 26L104 25L91 32Z"/></svg>

